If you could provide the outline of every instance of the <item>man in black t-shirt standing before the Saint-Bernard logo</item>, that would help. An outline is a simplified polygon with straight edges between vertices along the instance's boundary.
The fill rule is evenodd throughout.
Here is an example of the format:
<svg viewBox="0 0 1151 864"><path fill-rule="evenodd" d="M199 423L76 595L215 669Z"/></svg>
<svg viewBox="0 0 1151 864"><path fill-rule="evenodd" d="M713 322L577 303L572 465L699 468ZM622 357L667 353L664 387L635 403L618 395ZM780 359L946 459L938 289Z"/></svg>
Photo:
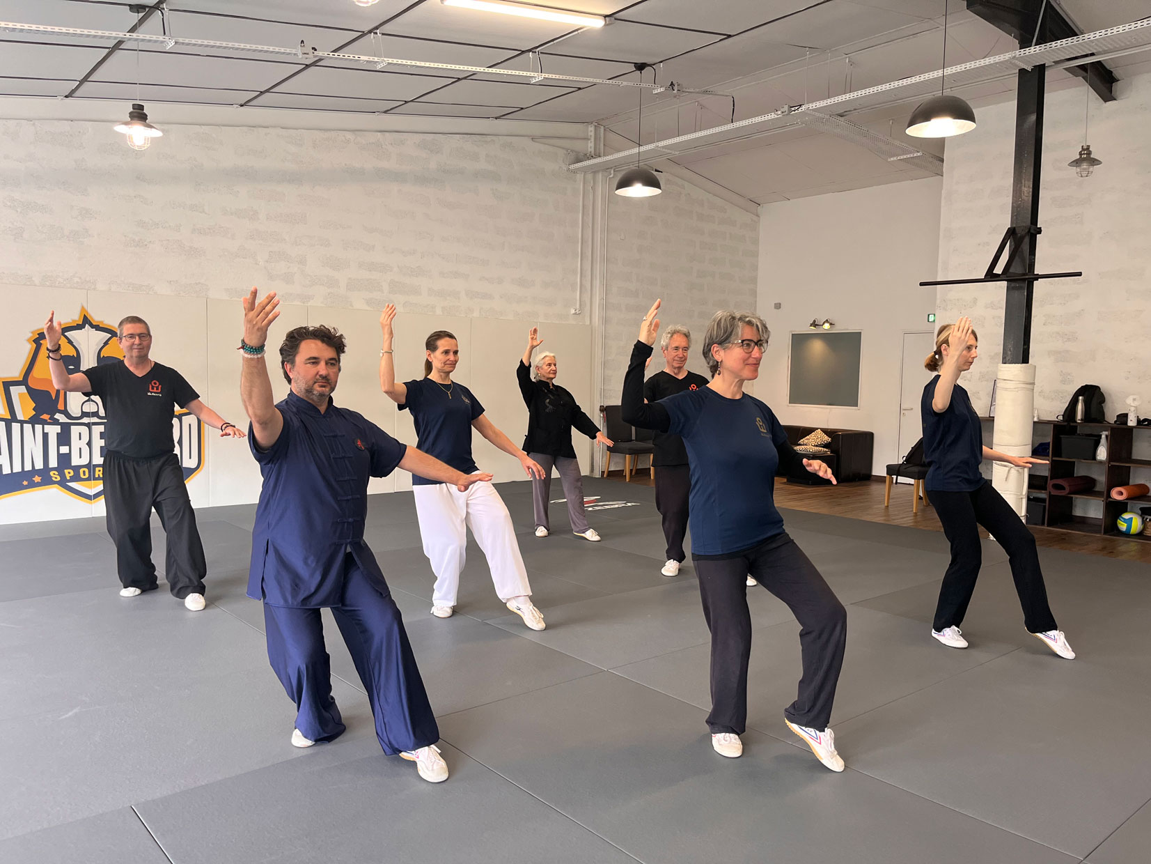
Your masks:
<svg viewBox="0 0 1151 864"><path fill-rule="evenodd" d="M44 325L52 384L58 391L99 396L106 416L104 501L108 533L116 544L121 597L137 597L157 588L152 563L152 508L168 536L166 576L173 597L191 612L204 608L207 564L196 529L196 514L184 486L184 473L171 430L175 408L188 409L221 435L244 433L200 401L184 377L148 356L152 331L143 318L129 316L116 328L123 361L101 363L68 374L61 361L61 325L55 312Z"/></svg>

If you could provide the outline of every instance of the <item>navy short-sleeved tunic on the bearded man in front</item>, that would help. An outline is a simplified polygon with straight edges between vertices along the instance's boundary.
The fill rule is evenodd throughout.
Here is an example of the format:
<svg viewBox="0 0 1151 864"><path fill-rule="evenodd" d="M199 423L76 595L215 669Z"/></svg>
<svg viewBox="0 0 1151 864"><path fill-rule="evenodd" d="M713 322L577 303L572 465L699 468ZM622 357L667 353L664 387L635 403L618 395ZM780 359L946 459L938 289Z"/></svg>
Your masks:
<svg viewBox="0 0 1151 864"><path fill-rule="evenodd" d="M249 425L264 486L247 596L272 606L340 606L349 553L387 594L380 566L364 543L367 482L391 473L407 447L330 400L321 412L289 393L276 408L283 431L267 450L257 447Z"/></svg>

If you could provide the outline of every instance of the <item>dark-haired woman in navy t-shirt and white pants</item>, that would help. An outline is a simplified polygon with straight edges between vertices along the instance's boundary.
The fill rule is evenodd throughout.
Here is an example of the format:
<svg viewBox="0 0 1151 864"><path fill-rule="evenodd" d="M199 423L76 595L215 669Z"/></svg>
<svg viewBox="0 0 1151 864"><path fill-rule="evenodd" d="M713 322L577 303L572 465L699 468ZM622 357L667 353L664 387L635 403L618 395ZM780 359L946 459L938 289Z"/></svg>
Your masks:
<svg viewBox="0 0 1151 864"><path fill-rule="evenodd" d="M542 477L543 469L496 429L472 392L451 379L459 363L459 343L451 333L436 331L427 338L424 378L403 384L396 381L391 353L396 308L389 303L380 316L383 334L380 388L399 410L412 412L419 439L417 446L449 465L474 465L472 429L475 429L501 450L516 456L529 477ZM417 476L412 477L412 485L424 554L435 573L432 614L450 617L455 611L470 528L488 560L500 599L524 619L527 627L542 630L543 615L532 604L532 586L519 554L511 514L495 487L490 483L475 483L466 492L459 492L455 486Z"/></svg>

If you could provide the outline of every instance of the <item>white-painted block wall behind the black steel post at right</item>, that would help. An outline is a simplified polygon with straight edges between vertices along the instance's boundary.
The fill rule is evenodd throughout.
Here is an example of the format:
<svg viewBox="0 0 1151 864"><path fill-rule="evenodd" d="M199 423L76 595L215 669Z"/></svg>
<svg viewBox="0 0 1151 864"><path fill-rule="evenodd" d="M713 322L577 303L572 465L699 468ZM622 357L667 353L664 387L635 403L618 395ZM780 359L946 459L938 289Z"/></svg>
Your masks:
<svg viewBox="0 0 1151 864"><path fill-rule="evenodd" d="M1091 97L1089 143L1103 160L1075 176L1083 143L1082 86L1049 93L1039 206L1038 270L1081 270L1082 279L1036 283L1031 362L1042 417L1061 412L1075 387L1098 384L1108 418L1131 393L1151 412L1151 75L1120 82L1119 100ZM1014 103L981 108L975 131L947 143L939 278L982 275L1008 225ZM983 358L965 386L977 408L991 397L1003 349L1004 285L943 287L940 323L970 314Z"/></svg>

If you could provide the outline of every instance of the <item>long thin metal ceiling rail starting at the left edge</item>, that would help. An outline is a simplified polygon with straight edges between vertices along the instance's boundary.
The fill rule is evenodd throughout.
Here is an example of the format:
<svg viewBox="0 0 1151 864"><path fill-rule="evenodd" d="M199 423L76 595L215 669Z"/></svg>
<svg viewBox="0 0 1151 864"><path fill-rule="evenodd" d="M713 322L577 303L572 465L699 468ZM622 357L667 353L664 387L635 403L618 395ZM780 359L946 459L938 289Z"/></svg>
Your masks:
<svg viewBox="0 0 1151 864"><path fill-rule="evenodd" d="M284 48L276 45L250 45L238 41L218 41L215 39L184 39L178 36L157 36L152 33L115 32L112 30L85 30L74 26L48 26L46 24L20 24L13 21L0 21L0 31L16 33L35 33L38 36L58 36L81 39L97 39L113 43L136 43L139 45L160 45L165 50L177 45L186 48L208 48L212 51L234 51L242 54L266 54L281 58L296 58L313 62L315 60L346 60L365 66L383 69L388 66L411 67L418 69L450 69L481 75L506 75L510 78L527 78L528 83L538 81L570 81L580 84L610 84L617 88L645 88L655 90L656 84L639 81L611 81L608 78L588 78L580 75L555 75L542 70L524 71L520 69L494 69L487 66L463 66L460 63L435 63L427 60L401 60L398 58L373 56L371 54L346 54L338 51L317 51L300 41L296 47ZM556 40L558 41L558 40Z"/></svg>

